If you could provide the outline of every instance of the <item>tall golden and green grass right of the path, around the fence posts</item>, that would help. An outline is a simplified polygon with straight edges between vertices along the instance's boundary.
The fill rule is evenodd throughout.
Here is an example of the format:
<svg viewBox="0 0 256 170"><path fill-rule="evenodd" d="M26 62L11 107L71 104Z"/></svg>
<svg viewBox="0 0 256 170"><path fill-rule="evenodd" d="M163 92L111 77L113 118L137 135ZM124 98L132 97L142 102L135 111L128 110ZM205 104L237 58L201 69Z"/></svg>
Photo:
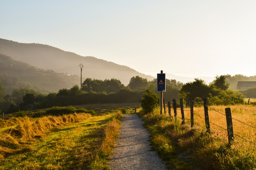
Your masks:
<svg viewBox="0 0 256 170"><path fill-rule="evenodd" d="M249 105L211 106L225 114L230 107L232 117L256 127L256 107ZM184 108L189 110L189 108ZM204 108L194 107L194 112L204 118ZM173 115L173 111L172 111ZM177 113L181 117L180 111ZM234 136L234 143L228 144L226 117L209 108L211 133L206 133L205 120L194 115L194 127L190 120L160 116L159 110L150 114L140 112L145 126L151 133L153 149L166 161L169 169L213 169L247 170L256 169L256 147L252 143ZM190 111L185 111L185 119L190 119ZM256 129L233 120L234 134L256 143Z"/></svg>

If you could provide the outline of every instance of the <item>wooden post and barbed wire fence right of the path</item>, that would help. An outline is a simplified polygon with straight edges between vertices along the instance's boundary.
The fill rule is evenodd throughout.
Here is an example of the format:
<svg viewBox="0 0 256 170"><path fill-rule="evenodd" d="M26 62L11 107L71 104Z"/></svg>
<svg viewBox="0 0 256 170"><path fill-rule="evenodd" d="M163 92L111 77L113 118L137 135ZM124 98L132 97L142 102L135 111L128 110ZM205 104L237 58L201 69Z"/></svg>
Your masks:
<svg viewBox="0 0 256 170"><path fill-rule="evenodd" d="M230 108L225 108L225 114L223 114L222 112L220 111L217 111L215 110L214 108L211 108L210 106L208 106L208 100L207 98L204 99L204 102L203 103L200 103L200 102L196 102L193 100L193 98L191 98L189 101L186 101L189 103L189 106L190 106L190 110L184 110L184 104L183 104L183 99L180 99L179 102L176 102L176 99L173 99L172 101L172 105L171 105L171 102L168 102L167 104L167 107L168 107L168 114L169 114L169 117L174 117L175 119L177 118L180 118L181 119L181 124L185 124L185 120L190 120L190 123L191 123L191 128L194 126L194 115L197 116L198 118L200 119L203 119L204 122L205 122L205 127L206 127L206 133L210 133L210 124L214 125L214 126L217 126L223 130L226 130L227 131L227 136L228 136L228 141L229 141L229 144L232 144L233 141L234 141L234 135L236 137L239 137L247 142L250 142L252 143L253 145L256 145L256 143L252 142L252 141L249 141L248 139L244 138L244 137L241 137L240 135L238 134L235 134L234 131L233 131L233 122L232 120L235 120L237 122L240 122L246 126L249 126L249 127L252 127L254 129L256 129L255 126L252 126L250 124L247 124L245 122L242 122L241 120L238 120L238 119L235 119L235 118L232 118L232 115L231 115L231 109ZM177 103L180 103L180 109L177 109ZM198 103L198 104L203 104L203 107L204 107L204 117L200 116L199 114L197 114L196 112L194 112L194 104L195 103ZM163 99L163 108L164 108L164 112L166 113L166 105L165 105L165 99ZM216 113L218 114L221 114L221 115L224 115L226 117L226 123L227 123L227 128L225 127L222 127L222 126L219 126L217 125L216 123L213 123L213 122L210 122L209 120L209 114L208 114L208 109L211 109L213 111L215 111ZM174 116L172 116L172 110L173 110L173 113L174 113ZM177 116L177 110L180 110L181 111L181 117L178 117ZM190 111L190 115L191 115L191 118L190 119L185 119L185 116L184 116L184 111ZM196 123L197 124L197 123ZM199 125L199 124L197 124ZM199 125L200 126L200 125Z"/></svg>

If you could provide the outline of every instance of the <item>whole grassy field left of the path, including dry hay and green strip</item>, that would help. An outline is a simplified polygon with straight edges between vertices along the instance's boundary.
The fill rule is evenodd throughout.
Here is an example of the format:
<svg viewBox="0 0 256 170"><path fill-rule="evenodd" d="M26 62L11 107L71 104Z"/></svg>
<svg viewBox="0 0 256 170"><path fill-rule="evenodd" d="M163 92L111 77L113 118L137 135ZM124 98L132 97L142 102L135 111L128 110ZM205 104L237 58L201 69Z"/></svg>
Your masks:
<svg viewBox="0 0 256 170"><path fill-rule="evenodd" d="M0 169L108 169L121 112L1 120Z"/></svg>

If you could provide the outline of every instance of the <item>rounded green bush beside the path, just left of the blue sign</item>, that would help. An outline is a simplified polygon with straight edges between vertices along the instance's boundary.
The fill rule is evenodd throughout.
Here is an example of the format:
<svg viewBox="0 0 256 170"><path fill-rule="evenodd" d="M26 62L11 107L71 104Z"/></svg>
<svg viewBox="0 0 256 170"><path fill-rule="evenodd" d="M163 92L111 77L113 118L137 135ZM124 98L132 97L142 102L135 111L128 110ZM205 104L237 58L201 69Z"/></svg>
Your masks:
<svg viewBox="0 0 256 170"><path fill-rule="evenodd" d="M158 106L158 95L147 89L140 100L140 105L145 113L153 112Z"/></svg>

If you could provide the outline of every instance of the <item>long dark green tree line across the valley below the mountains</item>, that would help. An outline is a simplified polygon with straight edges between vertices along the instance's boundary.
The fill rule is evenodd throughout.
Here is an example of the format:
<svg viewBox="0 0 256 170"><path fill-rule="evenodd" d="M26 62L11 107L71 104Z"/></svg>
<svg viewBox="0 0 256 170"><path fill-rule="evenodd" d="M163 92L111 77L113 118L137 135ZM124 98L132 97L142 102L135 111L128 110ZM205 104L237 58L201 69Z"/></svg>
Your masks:
<svg viewBox="0 0 256 170"><path fill-rule="evenodd" d="M196 98L201 101L209 98L211 104L244 103L245 96L238 91L230 90L225 75L216 76L214 82L207 84L202 79L181 83L174 79L166 79L166 101L172 99ZM0 109L4 112L18 110L34 110L53 106L70 106L93 103L132 103L139 102L144 92L148 90L159 96L157 79L148 81L146 78L134 76L129 84L124 86L118 79L91 79L82 83L82 91L78 85L70 89L62 88L58 92L40 93L28 87L20 87L5 94L5 87L0 84Z"/></svg>

